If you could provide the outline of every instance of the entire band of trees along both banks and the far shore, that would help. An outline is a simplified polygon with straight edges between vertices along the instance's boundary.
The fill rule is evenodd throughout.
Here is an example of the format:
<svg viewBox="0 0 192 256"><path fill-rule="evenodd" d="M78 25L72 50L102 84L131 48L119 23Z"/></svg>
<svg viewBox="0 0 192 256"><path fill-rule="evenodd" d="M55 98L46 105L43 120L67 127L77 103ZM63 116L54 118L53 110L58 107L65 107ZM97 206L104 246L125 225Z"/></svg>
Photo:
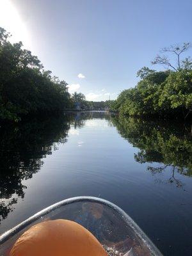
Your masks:
<svg viewBox="0 0 192 256"><path fill-rule="evenodd" d="M173 45L162 49L152 64L166 70L141 68L140 81L124 90L116 100L93 102L83 93L68 93L68 84L40 60L22 49L22 42L12 44L10 33L0 27L0 120L19 122L28 115L49 115L64 110L107 110L124 116L142 116L189 120L192 114L192 60L181 58L191 45ZM175 54L177 64L164 54Z"/></svg>

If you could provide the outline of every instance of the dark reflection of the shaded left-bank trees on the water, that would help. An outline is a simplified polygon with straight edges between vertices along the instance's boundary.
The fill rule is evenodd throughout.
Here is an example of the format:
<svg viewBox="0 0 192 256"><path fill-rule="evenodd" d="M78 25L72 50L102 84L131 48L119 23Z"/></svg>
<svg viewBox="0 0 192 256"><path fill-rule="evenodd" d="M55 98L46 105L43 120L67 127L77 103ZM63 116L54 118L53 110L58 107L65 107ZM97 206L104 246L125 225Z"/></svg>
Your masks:
<svg viewBox="0 0 192 256"><path fill-rule="evenodd" d="M70 122L63 116L33 119L1 127L0 222L13 211L18 198L24 198L22 180L31 179L44 163L42 159L67 141Z"/></svg>

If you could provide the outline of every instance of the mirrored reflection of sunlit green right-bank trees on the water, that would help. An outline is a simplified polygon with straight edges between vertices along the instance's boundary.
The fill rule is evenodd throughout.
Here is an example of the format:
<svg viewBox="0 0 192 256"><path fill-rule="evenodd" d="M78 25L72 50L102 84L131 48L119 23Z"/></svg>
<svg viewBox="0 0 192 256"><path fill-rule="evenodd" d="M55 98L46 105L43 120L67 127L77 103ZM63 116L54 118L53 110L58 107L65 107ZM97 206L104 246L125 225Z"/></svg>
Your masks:
<svg viewBox="0 0 192 256"><path fill-rule="evenodd" d="M156 179L156 182L168 182L182 188L184 184L175 177L180 173L192 175L192 136L191 125L183 125L160 120L141 120L115 116L113 124L118 132L133 147L140 151L134 154L138 163L149 163L147 170L156 175L170 172L168 180Z"/></svg>

